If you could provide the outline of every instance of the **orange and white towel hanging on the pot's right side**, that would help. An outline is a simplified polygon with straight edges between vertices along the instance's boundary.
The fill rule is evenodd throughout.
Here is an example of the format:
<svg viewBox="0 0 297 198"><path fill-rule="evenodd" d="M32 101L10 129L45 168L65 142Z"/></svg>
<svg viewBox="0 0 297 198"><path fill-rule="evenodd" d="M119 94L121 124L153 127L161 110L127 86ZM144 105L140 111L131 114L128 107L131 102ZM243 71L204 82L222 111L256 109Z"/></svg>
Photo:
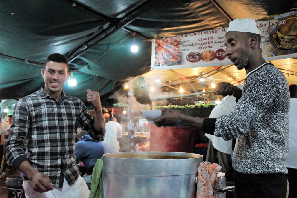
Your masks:
<svg viewBox="0 0 297 198"><path fill-rule="evenodd" d="M212 185L217 179L218 172L222 169L219 164L201 162L198 168L197 193L196 198L213 198Z"/></svg>

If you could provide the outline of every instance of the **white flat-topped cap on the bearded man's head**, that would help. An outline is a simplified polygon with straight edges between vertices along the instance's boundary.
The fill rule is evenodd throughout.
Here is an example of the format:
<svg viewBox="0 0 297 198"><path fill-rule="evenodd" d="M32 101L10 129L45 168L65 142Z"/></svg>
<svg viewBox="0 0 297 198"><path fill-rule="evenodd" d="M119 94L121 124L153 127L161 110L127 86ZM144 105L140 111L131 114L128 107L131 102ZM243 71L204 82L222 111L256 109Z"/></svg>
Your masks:
<svg viewBox="0 0 297 198"><path fill-rule="evenodd" d="M244 19L235 19L230 21L228 31L237 31L237 32L249 32L254 34L260 34L259 29L257 28L255 19L244 18Z"/></svg>

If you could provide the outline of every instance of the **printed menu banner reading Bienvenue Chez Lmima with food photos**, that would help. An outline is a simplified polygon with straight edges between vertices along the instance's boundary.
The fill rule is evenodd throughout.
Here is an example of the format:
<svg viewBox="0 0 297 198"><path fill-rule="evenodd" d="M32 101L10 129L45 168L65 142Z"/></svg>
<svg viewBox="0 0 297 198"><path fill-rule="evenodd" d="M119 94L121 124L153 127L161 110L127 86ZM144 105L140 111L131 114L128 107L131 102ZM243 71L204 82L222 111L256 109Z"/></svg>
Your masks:
<svg viewBox="0 0 297 198"><path fill-rule="evenodd" d="M266 61L297 56L297 12L256 21ZM152 40L151 69L230 65L225 56L228 27Z"/></svg>

